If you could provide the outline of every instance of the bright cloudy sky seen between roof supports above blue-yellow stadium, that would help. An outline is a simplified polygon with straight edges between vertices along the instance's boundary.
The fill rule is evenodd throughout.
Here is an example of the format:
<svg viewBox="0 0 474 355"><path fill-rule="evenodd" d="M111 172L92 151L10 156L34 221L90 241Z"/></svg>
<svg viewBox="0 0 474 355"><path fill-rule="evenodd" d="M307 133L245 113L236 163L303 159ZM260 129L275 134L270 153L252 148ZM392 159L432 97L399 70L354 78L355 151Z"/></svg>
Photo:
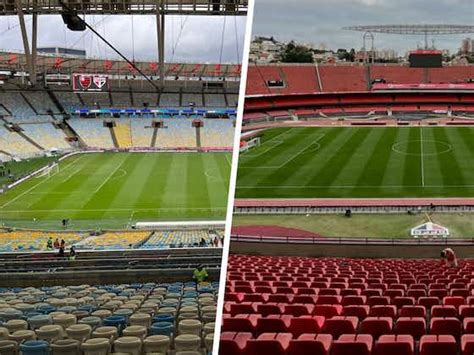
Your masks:
<svg viewBox="0 0 474 355"><path fill-rule="evenodd" d="M168 16L166 61L241 62L245 20L242 16ZM31 18L27 21L31 27ZM86 21L95 24L94 28L129 58L134 55L137 60L156 60L155 16L136 15L133 21L132 16L87 16ZM81 48L91 56L115 58L92 32L71 32L60 16L40 16L38 28L38 46ZM23 51L17 17L0 17L0 49Z"/></svg>

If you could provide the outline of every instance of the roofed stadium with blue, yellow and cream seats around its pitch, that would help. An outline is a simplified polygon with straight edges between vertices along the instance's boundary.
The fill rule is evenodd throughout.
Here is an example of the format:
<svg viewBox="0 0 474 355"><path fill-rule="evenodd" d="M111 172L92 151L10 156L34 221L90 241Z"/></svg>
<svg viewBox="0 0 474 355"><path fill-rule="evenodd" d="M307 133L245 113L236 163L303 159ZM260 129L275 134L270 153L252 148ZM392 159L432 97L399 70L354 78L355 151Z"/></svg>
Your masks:
<svg viewBox="0 0 474 355"><path fill-rule="evenodd" d="M234 1L0 1L2 35L21 29L24 44L0 53L1 354L211 353L240 60L169 61L165 19L246 11ZM61 15L102 52L40 51L43 15ZM117 15L132 40L156 21L145 54L157 38L157 59L110 44ZM66 26L58 42L77 38Z"/></svg>

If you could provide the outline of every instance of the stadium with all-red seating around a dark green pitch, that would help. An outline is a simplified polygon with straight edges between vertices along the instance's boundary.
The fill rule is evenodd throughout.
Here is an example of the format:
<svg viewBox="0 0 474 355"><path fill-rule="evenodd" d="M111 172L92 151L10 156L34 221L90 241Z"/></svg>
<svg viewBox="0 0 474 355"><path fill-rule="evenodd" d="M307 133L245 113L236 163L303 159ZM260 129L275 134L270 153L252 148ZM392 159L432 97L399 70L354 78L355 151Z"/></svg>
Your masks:
<svg viewBox="0 0 474 355"><path fill-rule="evenodd" d="M221 354L472 353L474 67L410 57L249 66Z"/></svg>

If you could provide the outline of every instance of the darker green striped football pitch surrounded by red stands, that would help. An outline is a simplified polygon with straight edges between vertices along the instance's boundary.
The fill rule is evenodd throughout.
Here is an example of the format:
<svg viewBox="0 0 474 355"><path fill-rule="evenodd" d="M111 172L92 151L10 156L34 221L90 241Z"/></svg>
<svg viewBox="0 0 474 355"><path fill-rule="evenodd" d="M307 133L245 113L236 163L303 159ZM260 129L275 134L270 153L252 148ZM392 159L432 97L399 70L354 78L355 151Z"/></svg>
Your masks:
<svg viewBox="0 0 474 355"><path fill-rule="evenodd" d="M240 155L236 198L474 197L474 128L275 128Z"/></svg>

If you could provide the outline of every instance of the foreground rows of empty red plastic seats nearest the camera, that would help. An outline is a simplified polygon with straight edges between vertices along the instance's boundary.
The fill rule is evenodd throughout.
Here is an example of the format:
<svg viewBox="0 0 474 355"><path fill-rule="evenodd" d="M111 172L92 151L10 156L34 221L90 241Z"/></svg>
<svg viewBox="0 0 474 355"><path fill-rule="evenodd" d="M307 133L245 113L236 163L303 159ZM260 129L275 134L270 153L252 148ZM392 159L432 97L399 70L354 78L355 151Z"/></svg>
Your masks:
<svg viewBox="0 0 474 355"><path fill-rule="evenodd" d="M467 354L473 268L231 255L220 353Z"/></svg>

